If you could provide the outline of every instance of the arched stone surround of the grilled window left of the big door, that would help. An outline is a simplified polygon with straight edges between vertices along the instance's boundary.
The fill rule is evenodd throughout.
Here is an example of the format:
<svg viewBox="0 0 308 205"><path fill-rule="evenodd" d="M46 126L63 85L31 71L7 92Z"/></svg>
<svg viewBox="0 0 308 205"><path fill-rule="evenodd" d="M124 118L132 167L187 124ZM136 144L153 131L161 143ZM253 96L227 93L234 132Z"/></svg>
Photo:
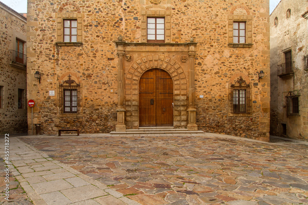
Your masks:
<svg viewBox="0 0 308 205"><path fill-rule="evenodd" d="M71 79L68 76L71 76ZM68 80L64 81L64 78L67 79L67 77L68 77ZM77 92L78 92L77 113L65 113L64 112L64 95L63 95L64 89L77 89ZM58 108L57 109L58 117L82 117L83 116L83 84L79 82L79 77L76 73L67 72L59 78L59 81L57 83L57 108Z"/></svg>

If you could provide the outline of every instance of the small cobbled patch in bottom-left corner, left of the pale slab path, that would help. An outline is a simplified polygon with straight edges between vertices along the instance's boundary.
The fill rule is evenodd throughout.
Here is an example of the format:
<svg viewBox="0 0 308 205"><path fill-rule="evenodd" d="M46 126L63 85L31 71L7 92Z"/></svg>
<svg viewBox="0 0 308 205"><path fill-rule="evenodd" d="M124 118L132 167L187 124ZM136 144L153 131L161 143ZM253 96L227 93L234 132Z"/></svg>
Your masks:
<svg viewBox="0 0 308 205"><path fill-rule="evenodd" d="M4 167L3 159L0 158L0 204L1 205L31 205L32 202L29 197L26 195L26 192L23 190L17 179L9 173L9 177L6 177L6 167ZM7 181L7 179L9 181ZM6 184L9 183L9 200L6 200L5 195Z"/></svg>

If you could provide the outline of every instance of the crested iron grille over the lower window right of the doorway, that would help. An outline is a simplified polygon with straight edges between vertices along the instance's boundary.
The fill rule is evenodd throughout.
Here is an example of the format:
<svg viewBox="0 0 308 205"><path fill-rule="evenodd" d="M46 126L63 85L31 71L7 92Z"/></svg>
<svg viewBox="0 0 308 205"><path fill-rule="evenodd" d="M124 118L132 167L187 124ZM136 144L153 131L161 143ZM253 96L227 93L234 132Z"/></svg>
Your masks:
<svg viewBox="0 0 308 205"><path fill-rule="evenodd" d="M251 85L242 77L230 86L231 113L251 113Z"/></svg>

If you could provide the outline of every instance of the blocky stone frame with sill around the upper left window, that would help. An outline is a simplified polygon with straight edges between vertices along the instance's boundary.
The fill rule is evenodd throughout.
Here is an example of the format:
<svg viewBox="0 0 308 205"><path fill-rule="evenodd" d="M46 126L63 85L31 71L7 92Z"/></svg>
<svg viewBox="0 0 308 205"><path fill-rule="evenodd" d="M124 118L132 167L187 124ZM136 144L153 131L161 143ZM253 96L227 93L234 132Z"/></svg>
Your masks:
<svg viewBox="0 0 308 205"><path fill-rule="evenodd" d="M57 42L58 46L81 46L83 42L83 29L81 13L57 13ZM64 20L77 20L77 42L64 42Z"/></svg>

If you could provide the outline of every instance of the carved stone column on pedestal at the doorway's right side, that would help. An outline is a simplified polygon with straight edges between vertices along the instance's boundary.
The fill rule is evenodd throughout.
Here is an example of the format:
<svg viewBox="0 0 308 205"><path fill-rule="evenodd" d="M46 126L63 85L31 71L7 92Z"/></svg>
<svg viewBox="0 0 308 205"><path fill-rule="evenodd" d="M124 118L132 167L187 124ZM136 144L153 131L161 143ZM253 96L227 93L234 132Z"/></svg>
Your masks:
<svg viewBox="0 0 308 205"><path fill-rule="evenodd" d="M197 43L188 43L188 131L197 131L195 107L195 46Z"/></svg>

